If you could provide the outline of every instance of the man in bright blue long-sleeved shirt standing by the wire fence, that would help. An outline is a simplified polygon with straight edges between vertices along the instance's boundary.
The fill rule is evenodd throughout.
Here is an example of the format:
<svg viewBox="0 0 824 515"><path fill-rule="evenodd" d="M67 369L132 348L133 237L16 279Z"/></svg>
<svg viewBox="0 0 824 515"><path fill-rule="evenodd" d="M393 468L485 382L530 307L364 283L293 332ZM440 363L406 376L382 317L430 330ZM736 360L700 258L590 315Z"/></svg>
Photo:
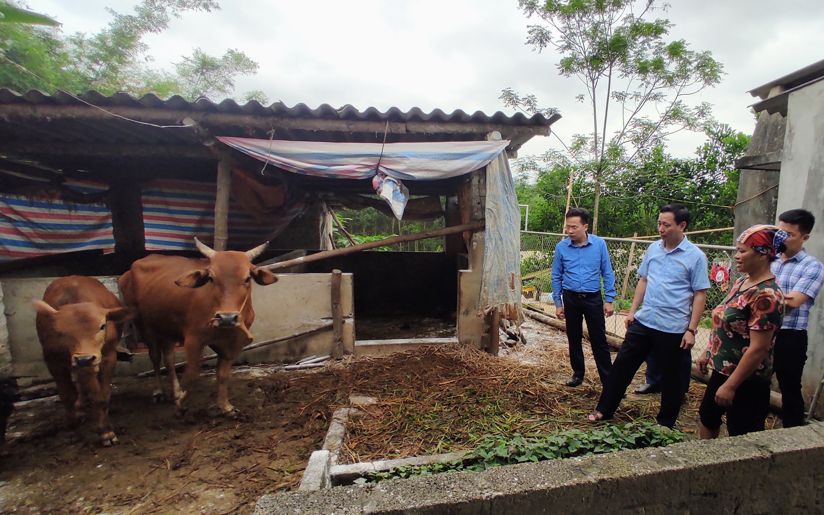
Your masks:
<svg viewBox="0 0 824 515"><path fill-rule="evenodd" d="M606 377L612 368L604 317L612 316L614 312L612 301L616 296L616 278L612 274L606 243L598 236L588 234L588 228L588 209L569 209L566 213L566 233L569 237L555 246L555 259L552 260L555 316L566 320L569 364L573 372L566 382L567 386L578 386L583 382L581 340L584 319L587 321L592 357L595 358L601 384L606 384ZM604 297L601 296L602 278Z"/></svg>

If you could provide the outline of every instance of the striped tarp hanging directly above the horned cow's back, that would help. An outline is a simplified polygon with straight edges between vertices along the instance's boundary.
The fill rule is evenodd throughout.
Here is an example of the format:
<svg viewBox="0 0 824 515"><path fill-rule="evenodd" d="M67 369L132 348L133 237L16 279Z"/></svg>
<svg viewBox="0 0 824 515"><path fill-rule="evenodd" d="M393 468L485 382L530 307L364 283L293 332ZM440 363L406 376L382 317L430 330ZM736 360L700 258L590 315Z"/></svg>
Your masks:
<svg viewBox="0 0 824 515"><path fill-rule="evenodd" d="M215 198L214 183L154 180L143 185L146 250L195 250L195 236L212 246ZM230 200L230 248L258 246L272 232L274 227L261 226Z"/></svg>

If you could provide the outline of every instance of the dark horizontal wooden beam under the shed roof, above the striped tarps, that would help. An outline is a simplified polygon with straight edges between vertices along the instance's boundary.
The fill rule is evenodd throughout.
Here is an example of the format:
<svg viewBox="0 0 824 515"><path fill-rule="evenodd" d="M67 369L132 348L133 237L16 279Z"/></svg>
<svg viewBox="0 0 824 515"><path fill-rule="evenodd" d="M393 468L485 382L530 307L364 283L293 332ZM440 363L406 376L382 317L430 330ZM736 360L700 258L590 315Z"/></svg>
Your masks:
<svg viewBox="0 0 824 515"><path fill-rule="evenodd" d="M6 141L0 144L0 152L24 156L216 158L208 147L199 143L193 145L111 145L105 143L16 143Z"/></svg>

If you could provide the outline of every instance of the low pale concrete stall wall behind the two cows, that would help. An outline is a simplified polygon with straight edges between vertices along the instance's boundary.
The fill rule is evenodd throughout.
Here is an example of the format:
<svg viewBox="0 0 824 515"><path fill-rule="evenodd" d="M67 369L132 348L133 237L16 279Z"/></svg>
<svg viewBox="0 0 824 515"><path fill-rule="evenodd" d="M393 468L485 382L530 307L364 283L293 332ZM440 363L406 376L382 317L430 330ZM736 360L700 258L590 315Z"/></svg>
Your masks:
<svg viewBox="0 0 824 515"><path fill-rule="evenodd" d="M332 321L330 274L278 274L270 286L255 284L252 302L255 323L250 330L255 342L275 339L308 330ZM106 288L119 295L117 277L98 277ZM48 377L40 342L35 330L32 297L42 298L54 278L0 279L2 308L0 316L0 371L10 369L14 375ZM344 314L344 349L354 349L354 310L352 275L344 274L341 283ZM4 332L4 325L7 331ZM292 362L306 356L329 354L334 345L331 330L253 349L238 358L240 363ZM211 353L207 348L204 353ZM180 353L179 362L184 361ZM129 375L152 368L146 353L135 355L133 363L118 363L117 373Z"/></svg>

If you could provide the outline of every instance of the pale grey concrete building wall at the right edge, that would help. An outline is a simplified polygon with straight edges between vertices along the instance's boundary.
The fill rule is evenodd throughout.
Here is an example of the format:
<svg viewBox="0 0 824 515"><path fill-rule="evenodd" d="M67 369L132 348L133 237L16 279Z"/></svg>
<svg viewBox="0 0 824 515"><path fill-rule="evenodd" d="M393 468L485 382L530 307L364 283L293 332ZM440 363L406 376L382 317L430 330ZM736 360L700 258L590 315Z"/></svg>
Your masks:
<svg viewBox="0 0 824 515"><path fill-rule="evenodd" d="M824 81L789 96L777 214L794 208L816 216L805 248L824 261ZM818 297L810 312L808 336L803 391L810 399L824 371L824 297Z"/></svg>

